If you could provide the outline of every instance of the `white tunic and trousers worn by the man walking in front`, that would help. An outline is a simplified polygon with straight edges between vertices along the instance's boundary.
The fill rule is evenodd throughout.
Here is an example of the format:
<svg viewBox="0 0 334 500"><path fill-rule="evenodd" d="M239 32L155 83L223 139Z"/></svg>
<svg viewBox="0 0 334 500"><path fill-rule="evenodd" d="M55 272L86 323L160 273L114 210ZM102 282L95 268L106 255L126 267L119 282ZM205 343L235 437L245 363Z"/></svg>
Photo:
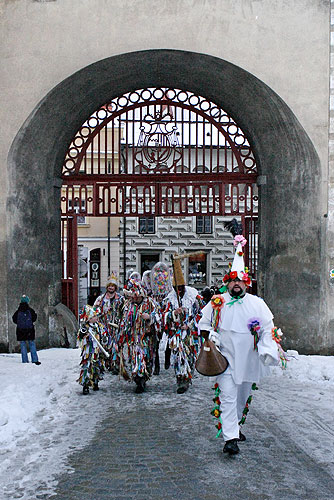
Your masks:
<svg viewBox="0 0 334 500"><path fill-rule="evenodd" d="M252 384L268 372L264 365L277 365L279 355L277 344L272 339L273 314L265 302L255 295L246 293L235 299L226 292L221 296L224 304L220 309L218 326L219 349L227 358L227 370L217 377L220 388L220 410L222 432L225 441L239 437L239 421L251 392ZM200 330L212 331L214 309L209 302L202 309ZM260 324L257 349L254 336L248 324L252 319Z"/></svg>

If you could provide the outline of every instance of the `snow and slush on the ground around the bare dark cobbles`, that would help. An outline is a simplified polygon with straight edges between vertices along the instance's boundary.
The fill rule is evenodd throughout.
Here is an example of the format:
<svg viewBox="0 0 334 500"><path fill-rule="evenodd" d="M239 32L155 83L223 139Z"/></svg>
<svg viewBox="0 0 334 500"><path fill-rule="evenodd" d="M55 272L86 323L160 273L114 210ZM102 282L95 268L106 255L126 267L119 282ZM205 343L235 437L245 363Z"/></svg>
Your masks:
<svg viewBox="0 0 334 500"><path fill-rule="evenodd" d="M256 440L266 442L268 460L279 460L276 467L284 476L284 472L291 473L289 460L285 462L286 454L293 456L294 450L296 454L302 450L314 464L314 470L319 468L324 477L328 477L328 481L324 481L330 488L334 486L334 357L301 356L292 351L290 354L294 357L288 369L275 368L255 392L244 427L250 439L242 445L237 460L247 466L252 460L252 450L256 450ZM49 498L56 493L55 498L59 499L77 498L74 493L62 496L61 490L57 490L60 479L75 474L71 457L73 454L78 457L80 450L96 439L103 422L107 421L116 432L118 416L127 412L135 415L137 408L138 415L147 414L147 408L163 410L165 416L168 412L179 415L178 420L169 419L168 423L172 428L178 425L176 422L181 422L180 425L184 422L184 427L176 429L183 434L194 429L197 439L193 444L194 454L215 456L215 474L226 466L226 457L217 454L222 440L215 439L215 422L210 415L212 381L197 374L191 389L180 396L175 394L172 370L162 369L160 376L148 383L147 393L138 396L133 394L131 384L108 373L99 392L82 396L81 387L76 383L78 349L47 349L39 352L39 358L42 364L36 366L22 364L19 354L0 355L1 500ZM204 424L199 425L200 422ZM283 435L285 440L275 444L273 437ZM154 450L154 444L152 446ZM175 449L176 454L177 451ZM309 487L307 484L304 487L300 496L297 492L297 496L285 498L307 498ZM269 491L267 497L256 496L260 495L259 490L252 494L248 491L244 498L279 498L281 495L277 486L276 493L275 489ZM94 496L81 498L95 500ZM174 497L152 493L147 498ZM319 493L318 498L330 497L324 492L323 496Z"/></svg>

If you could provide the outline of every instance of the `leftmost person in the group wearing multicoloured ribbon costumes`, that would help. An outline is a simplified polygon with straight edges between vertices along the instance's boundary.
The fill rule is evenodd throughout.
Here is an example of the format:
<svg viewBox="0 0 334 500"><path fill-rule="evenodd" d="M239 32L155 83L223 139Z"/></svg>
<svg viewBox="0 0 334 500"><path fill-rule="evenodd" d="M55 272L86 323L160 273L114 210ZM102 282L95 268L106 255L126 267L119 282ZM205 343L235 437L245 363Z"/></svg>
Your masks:
<svg viewBox="0 0 334 500"><path fill-rule="evenodd" d="M82 393L89 394L89 388L99 390L99 381L103 379L108 333L100 322L101 311L86 305L80 314L78 341L81 347L81 371L77 382L83 386Z"/></svg>

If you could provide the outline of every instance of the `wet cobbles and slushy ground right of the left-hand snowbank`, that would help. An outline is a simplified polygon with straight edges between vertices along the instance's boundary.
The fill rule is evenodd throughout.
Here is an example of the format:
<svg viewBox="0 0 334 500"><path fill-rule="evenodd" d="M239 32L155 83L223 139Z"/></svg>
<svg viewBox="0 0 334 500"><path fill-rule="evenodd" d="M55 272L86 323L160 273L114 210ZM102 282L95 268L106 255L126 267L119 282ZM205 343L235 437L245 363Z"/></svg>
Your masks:
<svg viewBox="0 0 334 500"><path fill-rule="evenodd" d="M281 377L280 390L273 390L277 380L267 379L244 426L247 441L238 456L229 457L222 453L223 440L215 438L212 382L197 375L191 389L177 395L172 375L162 370L141 395L108 375L101 390L87 397L96 398L96 412L108 405L109 417L87 447L70 457L70 473L58 478L56 495L36 498L334 499L332 418L315 410L330 392L306 404L298 396L302 389L305 394L304 384ZM84 396L78 398L82 404Z"/></svg>

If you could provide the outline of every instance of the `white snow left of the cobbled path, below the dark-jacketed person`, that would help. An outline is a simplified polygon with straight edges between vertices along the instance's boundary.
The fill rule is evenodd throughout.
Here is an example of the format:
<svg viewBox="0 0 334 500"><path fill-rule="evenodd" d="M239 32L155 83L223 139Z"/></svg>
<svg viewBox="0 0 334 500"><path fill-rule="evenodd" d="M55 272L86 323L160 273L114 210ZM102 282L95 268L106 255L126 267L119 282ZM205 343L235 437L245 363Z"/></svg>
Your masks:
<svg viewBox="0 0 334 500"><path fill-rule="evenodd" d="M85 446L107 411L98 403L103 394L81 397L79 349L38 356L39 366L21 363L20 354L0 355L1 500L36 498L37 486L51 493L54 476L67 470L66 457Z"/></svg>

